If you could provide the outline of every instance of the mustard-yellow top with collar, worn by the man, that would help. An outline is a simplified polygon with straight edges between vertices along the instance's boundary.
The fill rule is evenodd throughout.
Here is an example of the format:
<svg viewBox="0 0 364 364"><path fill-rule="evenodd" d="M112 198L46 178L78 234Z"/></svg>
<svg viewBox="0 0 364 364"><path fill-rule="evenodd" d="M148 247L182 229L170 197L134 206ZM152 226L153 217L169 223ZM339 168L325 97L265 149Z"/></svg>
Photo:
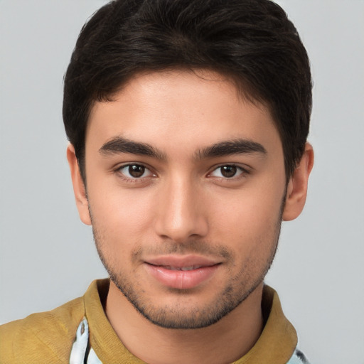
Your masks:
<svg viewBox="0 0 364 364"><path fill-rule="evenodd" d="M84 316L90 346L103 364L144 363L124 347L107 320L102 301L108 289L109 279L94 281L80 298L0 326L0 363L69 363L75 333ZM277 292L268 286L264 286L262 311L267 321L261 336L234 364L285 364L294 354L296 331L283 314Z"/></svg>

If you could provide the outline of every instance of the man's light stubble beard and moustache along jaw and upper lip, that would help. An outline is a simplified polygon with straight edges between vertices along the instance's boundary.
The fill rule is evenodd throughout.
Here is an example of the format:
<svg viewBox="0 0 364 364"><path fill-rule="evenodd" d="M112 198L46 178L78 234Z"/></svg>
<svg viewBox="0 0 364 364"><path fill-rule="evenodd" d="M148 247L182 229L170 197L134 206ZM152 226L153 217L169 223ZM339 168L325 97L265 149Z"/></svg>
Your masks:
<svg viewBox="0 0 364 364"><path fill-rule="evenodd" d="M277 252L277 246L279 241L279 234L282 225L282 215L284 210L286 191L284 192L284 198L282 199L279 216L275 225L274 237L269 245L270 251L268 257L263 264L261 262L252 262L252 264L260 263L262 269L260 269L257 277L252 277L252 272L246 269L246 265L240 267L239 272L235 274L229 281L229 284L218 292L213 301L205 307L194 307L193 309L186 309L181 305L174 305L173 307L160 306L156 307L151 304L148 296L143 297L144 291L139 287L139 283L135 282L134 285L128 279L128 274L124 274L120 267L114 267L109 263L109 259L105 257L102 252L102 245L107 244L103 234L96 228L94 219L90 211L92 220L92 232L94 235L95 245L97 252L100 256L102 264L109 273L109 277L114 282L115 286L122 292L127 300L144 316L145 319L151 323L161 326L162 328L174 328L174 329L194 329L204 328L213 323L220 321L224 316L228 315L232 310L236 309L255 289L261 284L266 276L269 268L272 265L274 256ZM191 254L196 253L200 255L210 255L213 257L222 257L227 264L230 264L230 269L234 266L234 253L228 250L225 246L210 246L208 243L192 240L183 244L176 244L169 242L167 245L159 246L154 250L148 250L149 253L155 252L156 254ZM132 261L137 262L139 257L145 253L145 250L135 250L132 254ZM133 272L129 272L133 274ZM244 279L242 279L244 277ZM180 294L181 296L191 294L191 290L183 289L169 289L171 294Z"/></svg>

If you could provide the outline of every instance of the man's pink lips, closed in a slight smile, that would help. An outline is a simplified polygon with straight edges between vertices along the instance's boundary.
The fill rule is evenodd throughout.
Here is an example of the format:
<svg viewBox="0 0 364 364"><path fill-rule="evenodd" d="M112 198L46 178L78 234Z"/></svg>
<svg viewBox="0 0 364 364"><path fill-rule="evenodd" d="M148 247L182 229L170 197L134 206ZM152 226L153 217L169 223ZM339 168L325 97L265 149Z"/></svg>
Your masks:
<svg viewBox="0 0 364 364"><path fill-rule="evenodd" d="M197 255L163 256L147 259L144 267L165 287L192 289L211 279L220 262Z"/></svg>

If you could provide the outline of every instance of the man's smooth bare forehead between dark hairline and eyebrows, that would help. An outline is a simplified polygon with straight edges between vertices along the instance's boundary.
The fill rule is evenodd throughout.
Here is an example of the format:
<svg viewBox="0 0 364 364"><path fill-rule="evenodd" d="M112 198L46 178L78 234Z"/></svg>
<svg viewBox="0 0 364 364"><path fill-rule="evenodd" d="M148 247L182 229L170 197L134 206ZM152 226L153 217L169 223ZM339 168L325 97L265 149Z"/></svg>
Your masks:
<svg viewBox="0 0 364 364"><path fill-rule="evenodd" d="M166 148L183 144L186 150L218 139L279 141L267 107L243 99L230 80L207 70L139 74L111 102L96 102L86 149L119 136Z"/></svg>

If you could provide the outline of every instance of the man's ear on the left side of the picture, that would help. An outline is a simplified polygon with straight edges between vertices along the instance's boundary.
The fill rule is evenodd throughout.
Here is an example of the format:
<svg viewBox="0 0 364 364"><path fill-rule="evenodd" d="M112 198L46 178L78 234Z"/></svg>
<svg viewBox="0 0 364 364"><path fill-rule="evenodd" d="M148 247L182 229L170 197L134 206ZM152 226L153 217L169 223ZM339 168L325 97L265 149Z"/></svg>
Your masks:
<svg viewBox="0 0 364 364"><path fill-rule="evenodd" d="M70 166L71 178L73 183L73 192L75 193L78 214L82 223L91 224L90 211L88 209L88 200L86 195L85 184L82 181L80 167L75 154L75 148L72 144L67 147L67 159Z"/></svg>

